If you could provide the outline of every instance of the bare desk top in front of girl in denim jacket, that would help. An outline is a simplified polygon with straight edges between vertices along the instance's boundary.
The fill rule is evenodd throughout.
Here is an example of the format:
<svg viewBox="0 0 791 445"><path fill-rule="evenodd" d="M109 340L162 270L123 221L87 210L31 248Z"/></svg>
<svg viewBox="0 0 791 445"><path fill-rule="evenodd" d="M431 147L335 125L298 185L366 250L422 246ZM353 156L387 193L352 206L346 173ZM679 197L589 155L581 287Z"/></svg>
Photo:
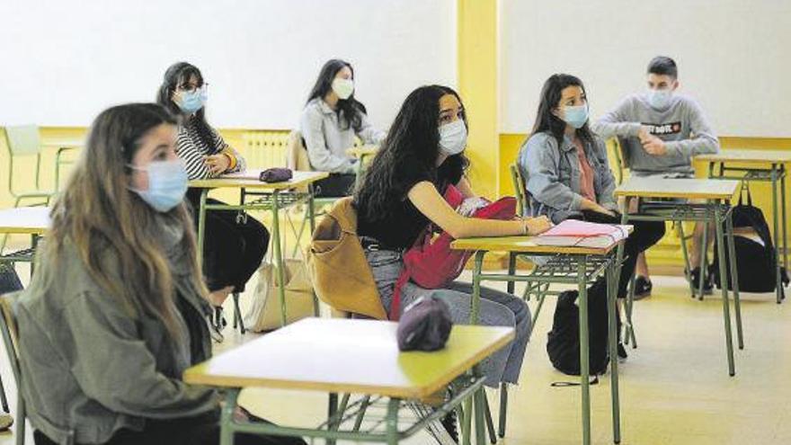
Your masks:
<svg viewBox="0 0 791 445"><path fill-rule="evenodd" d="M636 198L730 200L738 190L739 182L732 180L632 176L615 189L615 195Z"/></svg>

